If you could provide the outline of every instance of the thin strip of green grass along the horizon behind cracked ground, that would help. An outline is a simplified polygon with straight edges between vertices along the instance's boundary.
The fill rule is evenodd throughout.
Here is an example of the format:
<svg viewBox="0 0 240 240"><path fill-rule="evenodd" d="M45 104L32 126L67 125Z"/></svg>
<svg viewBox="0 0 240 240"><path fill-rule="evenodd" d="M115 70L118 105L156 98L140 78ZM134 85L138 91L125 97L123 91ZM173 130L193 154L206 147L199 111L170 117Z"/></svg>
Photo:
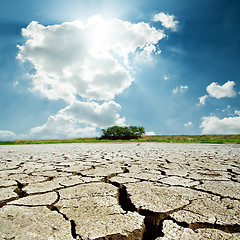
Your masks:
<svg viewBox="0 0 240 240"><path fill-rule="evenodd" d="M53 140L0 141L0 145L53 144L53 143L99 143L99 142L171 142L171 143L237 143L240 135L154 135L132 140L100 140L99 138L75 138Z"/></svg>

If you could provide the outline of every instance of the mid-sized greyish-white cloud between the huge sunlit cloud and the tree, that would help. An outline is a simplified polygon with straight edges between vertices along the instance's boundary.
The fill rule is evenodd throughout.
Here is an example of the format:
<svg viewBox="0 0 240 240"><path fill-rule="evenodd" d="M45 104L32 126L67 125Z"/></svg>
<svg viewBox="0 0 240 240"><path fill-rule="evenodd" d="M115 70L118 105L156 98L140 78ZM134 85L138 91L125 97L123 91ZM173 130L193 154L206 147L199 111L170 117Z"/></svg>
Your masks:
<svg viewBox="0 0 240 240"><path fill-rule="evenodd" d="M65 118L74 119L79 123L91 124L94 127L125 125L125 118L120 118L117 111L121 106L114 101L96 102L75 101L70 106L59 111Z"/></svg>

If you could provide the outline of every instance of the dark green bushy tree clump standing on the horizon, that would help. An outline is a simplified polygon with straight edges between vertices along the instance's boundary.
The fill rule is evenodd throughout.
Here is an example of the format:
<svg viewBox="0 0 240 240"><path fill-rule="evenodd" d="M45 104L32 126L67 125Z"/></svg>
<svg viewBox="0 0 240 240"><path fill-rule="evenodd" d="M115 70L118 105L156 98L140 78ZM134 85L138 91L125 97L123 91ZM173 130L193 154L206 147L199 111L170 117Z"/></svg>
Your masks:
<svg viewBox="0 0 240 240"><path fill-rule="evenodd" d="M113 126L107 129L102 129L103 135L101 139L137 139L140 138L144 133L144 127L136 127L136 126L129 126L129 127L119 127Z"/></svg>

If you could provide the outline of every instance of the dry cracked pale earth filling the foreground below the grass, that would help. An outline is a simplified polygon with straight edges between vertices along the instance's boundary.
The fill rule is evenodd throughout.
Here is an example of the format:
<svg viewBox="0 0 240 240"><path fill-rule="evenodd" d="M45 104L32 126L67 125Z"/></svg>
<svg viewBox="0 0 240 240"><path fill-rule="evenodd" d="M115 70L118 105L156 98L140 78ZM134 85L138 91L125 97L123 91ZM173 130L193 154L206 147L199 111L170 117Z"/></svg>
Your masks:
<svg viewBox="0 0 240 240"><path fill-rule="evenodd" d="M0 146L0 239L240 239L240 145Z"/></svg>

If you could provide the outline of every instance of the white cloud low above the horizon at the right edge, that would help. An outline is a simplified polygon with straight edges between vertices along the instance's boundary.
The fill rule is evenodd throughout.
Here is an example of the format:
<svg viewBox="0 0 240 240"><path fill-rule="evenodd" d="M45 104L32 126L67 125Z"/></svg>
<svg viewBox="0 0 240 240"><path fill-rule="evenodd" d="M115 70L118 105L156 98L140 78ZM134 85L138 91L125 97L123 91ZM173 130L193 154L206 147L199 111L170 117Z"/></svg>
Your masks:
<svg viewBox="0 0 240 240"><path fill-rule="evenodd" d="M200 128L203 128L203 134L239 134L240 116L223 119L215 116L203 117Z"/></svg>

